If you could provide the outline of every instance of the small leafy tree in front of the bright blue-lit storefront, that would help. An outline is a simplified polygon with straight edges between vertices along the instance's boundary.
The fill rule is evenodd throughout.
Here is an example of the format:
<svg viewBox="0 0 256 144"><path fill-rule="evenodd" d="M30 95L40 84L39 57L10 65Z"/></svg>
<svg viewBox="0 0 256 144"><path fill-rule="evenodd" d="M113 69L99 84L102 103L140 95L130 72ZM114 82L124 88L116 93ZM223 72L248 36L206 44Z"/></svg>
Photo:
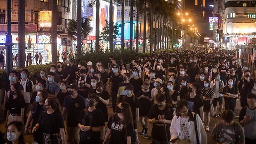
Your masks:
<svg viewBox="0 0 256 144"><path fill-rule="evenodd" d="M113 26L113 33L112 33L113 39L116 39L116 36L119 35L118 28L120 28L120 27L121 27L121 25L114 25ZM106 21L106 26L103 27L103 29L100 33L100 38L103 39L106 42L110 42L110 25L109 25L108 21Z"/></svg>

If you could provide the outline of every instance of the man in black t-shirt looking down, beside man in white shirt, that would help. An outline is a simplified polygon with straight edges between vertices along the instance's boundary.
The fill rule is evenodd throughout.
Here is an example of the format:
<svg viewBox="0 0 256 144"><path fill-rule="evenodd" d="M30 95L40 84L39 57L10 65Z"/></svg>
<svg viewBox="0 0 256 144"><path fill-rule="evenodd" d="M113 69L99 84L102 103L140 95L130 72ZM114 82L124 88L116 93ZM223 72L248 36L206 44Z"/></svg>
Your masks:
<svg viewBox="0 0 256 144"><path fill-rule="evenodd" d="M173 107L166 103L164 94L156 95L156 104L148 114L148 122L153 124L151 137L152 143L169 143L171 139L170 126L173 118Z"/></svg>

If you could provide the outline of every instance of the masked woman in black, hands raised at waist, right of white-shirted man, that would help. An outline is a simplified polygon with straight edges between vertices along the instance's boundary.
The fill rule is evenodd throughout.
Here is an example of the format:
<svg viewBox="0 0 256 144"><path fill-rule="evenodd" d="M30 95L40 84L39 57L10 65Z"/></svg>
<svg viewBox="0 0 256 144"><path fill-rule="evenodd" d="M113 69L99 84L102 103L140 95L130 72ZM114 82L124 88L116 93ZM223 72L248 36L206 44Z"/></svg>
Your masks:
<svg viewBox="0 0 256 144"><path fill-rule="evenodd" d="M223 88L222 93L225 99L225 109L230 109L235 112L238 89L237 86L234 86L234 81L232 78L228 79L228 83Z"/></svg>

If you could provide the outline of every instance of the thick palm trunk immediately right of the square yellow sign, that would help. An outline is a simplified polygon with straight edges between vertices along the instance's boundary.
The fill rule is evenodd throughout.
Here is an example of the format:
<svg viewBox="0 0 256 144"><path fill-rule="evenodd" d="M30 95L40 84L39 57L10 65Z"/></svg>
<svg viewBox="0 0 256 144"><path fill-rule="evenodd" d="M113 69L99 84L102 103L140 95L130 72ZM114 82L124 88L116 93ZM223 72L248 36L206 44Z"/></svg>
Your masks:
<svg viewBox="0 0 256 144"><path fill-rule="evenodd" d="M52 62L57 63L57 0L52 1Z"/></svg>

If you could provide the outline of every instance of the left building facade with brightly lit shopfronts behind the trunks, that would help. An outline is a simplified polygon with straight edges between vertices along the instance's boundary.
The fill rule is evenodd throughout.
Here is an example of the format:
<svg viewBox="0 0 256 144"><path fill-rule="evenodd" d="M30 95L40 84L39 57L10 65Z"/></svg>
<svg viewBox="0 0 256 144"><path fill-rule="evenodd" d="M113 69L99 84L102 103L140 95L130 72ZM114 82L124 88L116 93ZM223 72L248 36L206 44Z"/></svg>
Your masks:
<svg viewBox="0 0 256 144"><path fill-rule="evenodd" d="M61 45L61 37L65 34L68 20L72 18L70 0L57 0L58 20L57 20L57 50L59 53L66 51L66 46ZM13 0L11 5L12 22L12 42L13 55L18 53L18 0ZM40 52L43 61L51 61L51 10L52 1L50 0L25 0L25 53ZM6 0L0 0L0 46L4 46L6 25ZM31 46L28 46L31 39ZM28 49L30 47L30 49Z"/></svg>

